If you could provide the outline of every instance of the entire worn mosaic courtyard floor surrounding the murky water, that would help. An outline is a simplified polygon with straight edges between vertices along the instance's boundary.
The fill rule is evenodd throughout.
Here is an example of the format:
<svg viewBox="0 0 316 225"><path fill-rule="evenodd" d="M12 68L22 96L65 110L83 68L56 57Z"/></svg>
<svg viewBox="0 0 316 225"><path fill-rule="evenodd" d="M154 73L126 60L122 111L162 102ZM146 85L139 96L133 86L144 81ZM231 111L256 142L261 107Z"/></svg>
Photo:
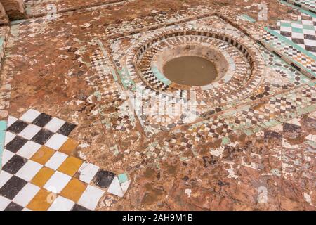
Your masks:
<svg viewBox="0 0 316 225"><path fill-rule="evenodd" d="M25 5L0 27L0 210L315 210L316 1ZM181 46L223 77L164 77Z"/></svg>

